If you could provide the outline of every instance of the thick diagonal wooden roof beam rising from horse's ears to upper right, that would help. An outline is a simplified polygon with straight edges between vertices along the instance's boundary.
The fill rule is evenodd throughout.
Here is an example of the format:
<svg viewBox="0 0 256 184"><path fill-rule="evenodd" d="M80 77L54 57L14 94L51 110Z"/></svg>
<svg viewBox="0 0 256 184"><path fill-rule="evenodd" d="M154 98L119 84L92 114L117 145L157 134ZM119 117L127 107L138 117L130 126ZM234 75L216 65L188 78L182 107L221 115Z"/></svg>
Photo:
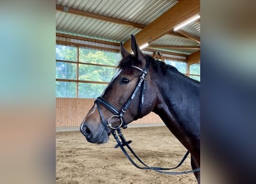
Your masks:
<svg viewBox="0 0 256 184"><path fill-rule="evenodd" d="M162 16L156 18L136 34L136 41L138 45L143 45L159 39L163 35L169 33L173 28L182 22L188 20L190 17L196 16L200 13L200 0L182 0L171 7ZM131 39L124 43L124 47L131 51Z"/></svg>

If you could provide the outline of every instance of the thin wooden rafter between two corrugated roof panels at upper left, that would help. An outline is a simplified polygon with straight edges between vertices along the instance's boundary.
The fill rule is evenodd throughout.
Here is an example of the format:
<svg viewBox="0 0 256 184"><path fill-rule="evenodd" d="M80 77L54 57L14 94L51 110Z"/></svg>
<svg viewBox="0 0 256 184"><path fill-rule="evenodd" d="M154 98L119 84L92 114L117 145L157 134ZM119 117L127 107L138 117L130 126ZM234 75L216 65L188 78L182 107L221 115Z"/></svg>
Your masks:
<svg viewBox="0 0 256 184"><path fill-rule="evenodd" d="M56 10L62 11L62 12L65 12L65 13L75 14L75 15L78 15L78 16L90 17L90 18L95 18L95 19L102 20L102 21L108 21L108 22L113 22L113 23L116 23L116 24L127 25L127 26L131 26L133 28L143 29L143 28L146 27L146 25L143 25L143 24L137 24L135 22L125 21L125 20L121 20L119 18L102 16L101 14L91 13L89 11L78 10L78 9L74 9L74 8L66 7L66 6L61 6L61 5L56 5Z"/></svg>

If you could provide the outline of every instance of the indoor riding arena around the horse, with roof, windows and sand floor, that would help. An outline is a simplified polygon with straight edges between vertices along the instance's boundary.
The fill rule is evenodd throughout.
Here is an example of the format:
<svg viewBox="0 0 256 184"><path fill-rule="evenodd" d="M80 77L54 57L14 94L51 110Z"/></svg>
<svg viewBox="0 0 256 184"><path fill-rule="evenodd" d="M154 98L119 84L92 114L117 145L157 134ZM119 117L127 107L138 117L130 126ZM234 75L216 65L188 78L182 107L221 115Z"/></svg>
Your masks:
<svg viewBox="0 0 256 184"><path fill-rule="evenodd" d="M124 57L120 43L132 52L131 35L144 55L170 64L182 75L200 82L200 1L56 0L58 184L199 183L194 173L170 175L140 170L119 147L114 148L117 142L111 134L108 143L93 144L85 137L89 130L80 132L95 99L105 93L119 72L116 67ZM143 86L146 90L147 87L148 83ZM140 90L139 93L143 94ZM147 100L144 95L142 104ZM125 112L133 108L129 106ZM96 108L90 113L95 111ZM129 146L150 167L175 167L188 151L166 127L165 120L151 112L132 121L128 128L121 128L125 139L132 141ZM128 154L144 167L131 152ZM190 162L189 154L180 167L169 171L193 170Z"/></svg>

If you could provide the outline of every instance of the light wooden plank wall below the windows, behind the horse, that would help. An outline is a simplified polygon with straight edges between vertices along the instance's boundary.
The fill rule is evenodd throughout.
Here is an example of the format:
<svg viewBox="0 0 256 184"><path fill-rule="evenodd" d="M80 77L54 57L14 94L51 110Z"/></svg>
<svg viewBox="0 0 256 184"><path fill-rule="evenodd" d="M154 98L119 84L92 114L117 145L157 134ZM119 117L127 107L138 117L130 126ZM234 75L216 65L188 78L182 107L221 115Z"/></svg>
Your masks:
<svg viewBox="0 0 256 184"><path fill-rule="evenodd" d="M56 98L56 127L78 127L83 118L93 106L95 99L85 98ZM158 123L163 122L155 113L132 122L141 123Z"/></svg>

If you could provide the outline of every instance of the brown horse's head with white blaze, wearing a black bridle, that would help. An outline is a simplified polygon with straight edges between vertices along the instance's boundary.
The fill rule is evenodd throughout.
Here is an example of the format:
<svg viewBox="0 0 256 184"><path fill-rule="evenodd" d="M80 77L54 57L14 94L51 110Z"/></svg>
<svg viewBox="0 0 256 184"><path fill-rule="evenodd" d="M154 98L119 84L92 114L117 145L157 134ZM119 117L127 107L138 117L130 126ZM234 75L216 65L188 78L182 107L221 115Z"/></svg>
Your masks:
<svg viewBox="0 0 256 184"><path fill-rule="evenodd" d="M120 44L119 71L81 124L80 131L90 143L108 142L113 129L126 128L127 124L146 116L154 108L157 91L148 72L147 56L143 55L133 35L131 48L133 54Z"/></svg>

